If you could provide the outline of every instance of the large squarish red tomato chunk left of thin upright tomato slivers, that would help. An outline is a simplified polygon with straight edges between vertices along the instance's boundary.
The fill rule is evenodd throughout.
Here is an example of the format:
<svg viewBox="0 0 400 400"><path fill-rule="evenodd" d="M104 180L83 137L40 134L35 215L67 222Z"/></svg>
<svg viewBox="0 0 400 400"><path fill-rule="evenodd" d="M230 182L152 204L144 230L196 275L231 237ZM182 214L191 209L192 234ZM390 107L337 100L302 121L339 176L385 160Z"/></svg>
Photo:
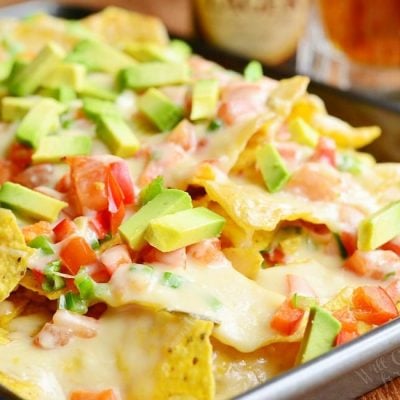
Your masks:
<svg viewBox="0 0 400 400"><path fill-rule="evenodd" d="M71 168L70 202L78 215L84 208L107 209L106 177L108 166L93 157L69 157Z"/></svg>

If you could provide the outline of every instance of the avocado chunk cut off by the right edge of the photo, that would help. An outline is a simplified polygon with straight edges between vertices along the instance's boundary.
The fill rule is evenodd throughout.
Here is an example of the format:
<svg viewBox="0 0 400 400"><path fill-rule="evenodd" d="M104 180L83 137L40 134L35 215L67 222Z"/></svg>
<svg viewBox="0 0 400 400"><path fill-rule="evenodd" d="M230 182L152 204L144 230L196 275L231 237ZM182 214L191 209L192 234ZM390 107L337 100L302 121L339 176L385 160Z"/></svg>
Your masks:
<svg viewBox="0 0 400 400"><path fill-rule="evenodd" d="M395 201L361 221L357 247L374 250L400 235L400 201Z"/></svg>

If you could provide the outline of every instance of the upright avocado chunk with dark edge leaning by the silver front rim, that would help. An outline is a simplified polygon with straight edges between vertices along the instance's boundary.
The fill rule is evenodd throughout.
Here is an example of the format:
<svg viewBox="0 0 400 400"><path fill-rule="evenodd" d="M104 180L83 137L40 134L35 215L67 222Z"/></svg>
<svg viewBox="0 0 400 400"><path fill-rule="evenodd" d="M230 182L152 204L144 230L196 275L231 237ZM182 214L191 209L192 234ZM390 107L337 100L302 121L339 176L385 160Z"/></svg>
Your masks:
<svg viewBox="0 0 400 400"><path fill-rule="evenodd" d="M297 364L303 364L331 350L340 329L340 322L332 314L321 307L311 307Z"/></svg>

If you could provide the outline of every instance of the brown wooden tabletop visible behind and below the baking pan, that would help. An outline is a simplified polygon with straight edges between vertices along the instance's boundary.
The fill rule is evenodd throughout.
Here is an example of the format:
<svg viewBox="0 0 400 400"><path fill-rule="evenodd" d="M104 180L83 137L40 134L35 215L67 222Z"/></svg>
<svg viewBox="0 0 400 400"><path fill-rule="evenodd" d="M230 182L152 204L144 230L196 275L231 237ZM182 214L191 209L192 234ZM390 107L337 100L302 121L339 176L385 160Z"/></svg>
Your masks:
<svg viewBox="0 0 400 400"><path fill-rule="evenodd" d="M0 0L0 6L21 0ZM59 0L63 4L98 9L115 5L160 17L170 32L189 37L194 34L190 0ZM340 399L338 399L340 400ZM362 396L360 400L400 400L400 378Z"/></svg>

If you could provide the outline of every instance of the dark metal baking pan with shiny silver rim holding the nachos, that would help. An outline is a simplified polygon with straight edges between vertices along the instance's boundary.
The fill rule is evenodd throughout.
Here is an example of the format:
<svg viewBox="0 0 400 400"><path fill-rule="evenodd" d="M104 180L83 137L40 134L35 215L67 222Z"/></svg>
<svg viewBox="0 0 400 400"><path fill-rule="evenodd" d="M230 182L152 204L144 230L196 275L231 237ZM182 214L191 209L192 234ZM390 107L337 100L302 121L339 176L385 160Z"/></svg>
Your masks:
<svg viewBox="0 0 400 400"><path fill-rule="evenodd" d="M2 16L24 17L44 11L63 18L81 18L92 12L83 7L31 1L0 9ZM190 41L194 51L221 65L241 71L248 60L226 54L200 40ZM264 68L266 75L283 78L294 74ZM383 136L366 150L379 161L400 162L400 104L372 96L340 91L311 82L329 112L354 124L382 127ZM236 397L237 400L354 399L400 376L400 320L394 320L304 365L293 368ZM0 386L0 400L23 400Z"/></svg>

